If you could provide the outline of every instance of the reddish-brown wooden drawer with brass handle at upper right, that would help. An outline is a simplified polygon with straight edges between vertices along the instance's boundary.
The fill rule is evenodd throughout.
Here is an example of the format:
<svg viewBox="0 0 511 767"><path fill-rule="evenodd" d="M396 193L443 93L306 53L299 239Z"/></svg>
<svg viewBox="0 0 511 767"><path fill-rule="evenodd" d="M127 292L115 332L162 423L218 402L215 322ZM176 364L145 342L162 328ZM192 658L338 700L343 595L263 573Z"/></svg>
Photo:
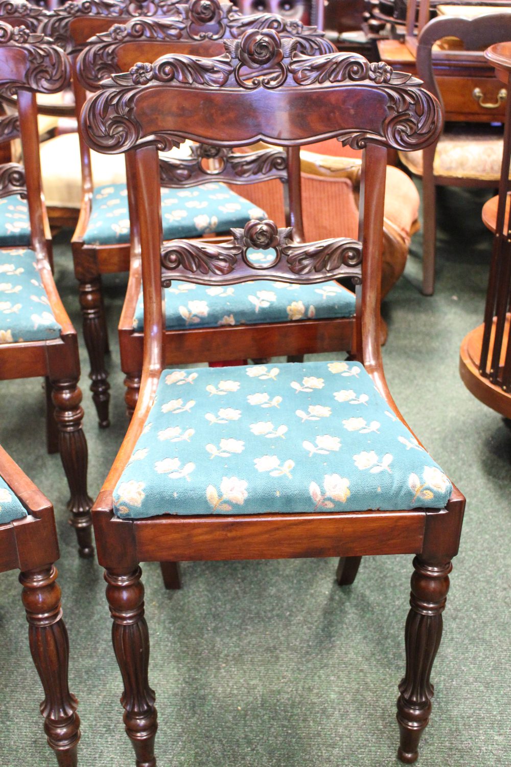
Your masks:
<svg viewBox="0 0 511 767"><path fill-rule="evenodd" d="M506 100L498 107L483 107L473 97L475 88L483 94L483 104L497 104L498 94L506 90L496 77L438 77L438 87L444 99L447 120L470 120L470 122L499 122L504 119Z"/></svg>

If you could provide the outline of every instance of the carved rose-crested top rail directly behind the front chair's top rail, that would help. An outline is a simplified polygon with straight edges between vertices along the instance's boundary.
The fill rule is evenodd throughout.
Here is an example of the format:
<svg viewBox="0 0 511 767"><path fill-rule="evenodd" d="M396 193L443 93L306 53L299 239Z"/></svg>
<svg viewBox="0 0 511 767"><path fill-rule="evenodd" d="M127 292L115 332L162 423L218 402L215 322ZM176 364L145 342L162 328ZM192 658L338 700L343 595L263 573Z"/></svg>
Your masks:
<svg viewBox="0 0 511 767"><path fill-rule="evenodd" d="M174 18L140 18L133 19L125 25L115 24L106 32L100 32L87 41L79 60L77 74L80 83L89 91L95 91L97 84L111 77L116 72L123 71L122 54L126 45L142 45L143 55L150 54L156 58L158 49L153 50L151 44L189 43L188 48L201 44L201 54L205 43L221 41L226 38L241 38L245 31L252 29L272 29L280 38L293 37L296 39L296 51L306 55L319 55L335 52L332 44L326 40L324 32L315 27L305 27L301 21L287 21L280 16L260 13L242 16L230 2L219 0L201 0L188 5L176 5ZM193 45L195 43L195 46ZM221 53L218 44L213 54ZM133 61L133 58L131 59Z"/></svg>

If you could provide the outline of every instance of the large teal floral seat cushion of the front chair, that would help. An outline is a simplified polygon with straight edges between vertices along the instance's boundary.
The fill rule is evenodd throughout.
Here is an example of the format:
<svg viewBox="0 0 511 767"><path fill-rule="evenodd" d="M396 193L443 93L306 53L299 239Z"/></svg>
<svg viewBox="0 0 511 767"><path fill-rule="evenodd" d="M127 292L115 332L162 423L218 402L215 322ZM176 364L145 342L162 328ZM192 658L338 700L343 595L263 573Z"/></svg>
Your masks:
<svg viewBox="0 0 511 767"><path fill-rule="evenodd" d="M359 363L164 370L123 518L443 508L452 486Z"/></svg>

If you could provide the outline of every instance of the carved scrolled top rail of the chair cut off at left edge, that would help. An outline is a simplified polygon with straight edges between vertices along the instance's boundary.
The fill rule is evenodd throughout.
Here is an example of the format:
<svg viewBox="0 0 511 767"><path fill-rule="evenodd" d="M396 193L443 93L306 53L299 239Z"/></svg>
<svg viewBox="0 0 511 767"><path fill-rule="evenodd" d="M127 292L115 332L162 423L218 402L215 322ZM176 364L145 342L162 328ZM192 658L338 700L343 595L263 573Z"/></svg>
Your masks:
<svg viewBox="0 0 511 767"><path fill-rule="evenodd" d="M0 21L0 88L14 96L18 88L52 94L69 84L70 65L52 41L26 27Z"/></svg>

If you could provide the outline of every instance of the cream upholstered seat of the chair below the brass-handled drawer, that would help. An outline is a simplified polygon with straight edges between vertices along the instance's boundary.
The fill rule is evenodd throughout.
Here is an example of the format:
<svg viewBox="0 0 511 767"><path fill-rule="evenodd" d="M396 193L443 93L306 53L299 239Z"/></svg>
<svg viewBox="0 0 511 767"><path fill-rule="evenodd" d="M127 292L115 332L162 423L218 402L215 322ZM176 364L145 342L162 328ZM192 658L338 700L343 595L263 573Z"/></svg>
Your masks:
<svg viewBox="0 0 511 767"><path fill-rule="evenodd" d="M435 176L498 182L502 153L503 131L500 127L449 127L437 143L433 172ZM422 176L422 150L400 152L399 159L412 173Z"/></svg>

